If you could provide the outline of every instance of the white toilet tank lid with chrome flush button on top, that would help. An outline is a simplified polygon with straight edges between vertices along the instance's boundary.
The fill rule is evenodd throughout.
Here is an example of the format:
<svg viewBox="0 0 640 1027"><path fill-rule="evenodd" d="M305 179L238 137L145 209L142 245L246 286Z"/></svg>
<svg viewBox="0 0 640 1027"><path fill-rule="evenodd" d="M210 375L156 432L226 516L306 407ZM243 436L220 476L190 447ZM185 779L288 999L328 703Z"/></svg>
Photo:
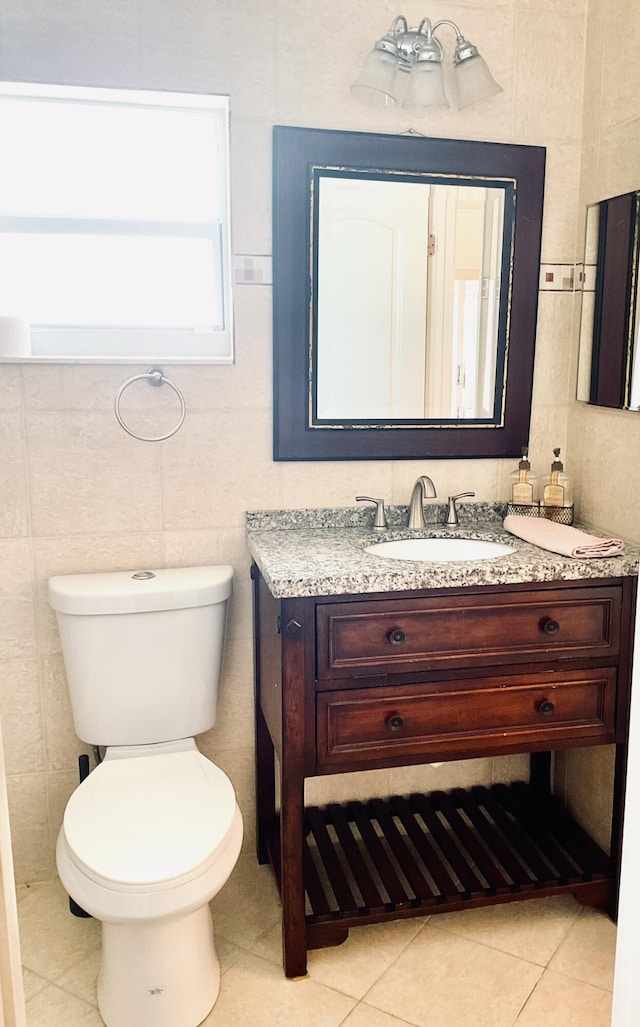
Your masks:
<svg viewBox="0 0 640 1027"><path fill-rule="evenodd" d="M49 603L60 613L143 613L222 603L231 595L233 569L171 567L153 571L61 574L49 578Z"/></svg>

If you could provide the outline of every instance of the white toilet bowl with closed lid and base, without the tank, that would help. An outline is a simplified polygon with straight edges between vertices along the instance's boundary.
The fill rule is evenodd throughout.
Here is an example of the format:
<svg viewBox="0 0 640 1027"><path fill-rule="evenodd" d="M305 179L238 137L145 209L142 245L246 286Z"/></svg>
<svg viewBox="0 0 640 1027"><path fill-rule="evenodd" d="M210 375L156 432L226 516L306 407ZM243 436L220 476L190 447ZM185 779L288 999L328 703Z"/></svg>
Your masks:
<svg viewBox="0 0 640 1027"><path fill-rule="evenodd" d="M235 866L242 820L226 774L193 739L183 746L108 749L65 811L58 869L103 923L108 1027L196 1025L218 995L209 902Z"/></svg>

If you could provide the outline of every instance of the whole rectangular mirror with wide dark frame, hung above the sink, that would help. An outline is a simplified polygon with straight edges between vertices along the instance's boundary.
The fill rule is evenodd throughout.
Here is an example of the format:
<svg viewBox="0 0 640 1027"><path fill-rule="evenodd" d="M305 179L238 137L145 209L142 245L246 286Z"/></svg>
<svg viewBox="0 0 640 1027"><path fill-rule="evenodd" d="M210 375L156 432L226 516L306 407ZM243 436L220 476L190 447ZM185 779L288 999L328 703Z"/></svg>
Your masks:
<svg viewBox="0 0 640 1027"><path fill-rule="evenodd" d="M274 128L276 460L527 445L540 147Z"/></svg>

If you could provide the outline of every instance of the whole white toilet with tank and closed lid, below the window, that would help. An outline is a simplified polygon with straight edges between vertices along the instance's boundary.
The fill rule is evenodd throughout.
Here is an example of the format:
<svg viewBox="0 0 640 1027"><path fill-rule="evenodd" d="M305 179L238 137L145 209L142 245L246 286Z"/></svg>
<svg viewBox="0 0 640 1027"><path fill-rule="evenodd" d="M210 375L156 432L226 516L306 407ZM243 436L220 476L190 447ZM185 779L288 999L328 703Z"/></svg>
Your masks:
<svg viewBox="0 0 640 1027"><path fill-rule="evenodd" d="M218 996L209 903L242 819L194 735L216 720L231 588L227 566L49 580L76 733L106 747L55 855L71 898L102 921L107 1027L196 1027Z"/></svg>

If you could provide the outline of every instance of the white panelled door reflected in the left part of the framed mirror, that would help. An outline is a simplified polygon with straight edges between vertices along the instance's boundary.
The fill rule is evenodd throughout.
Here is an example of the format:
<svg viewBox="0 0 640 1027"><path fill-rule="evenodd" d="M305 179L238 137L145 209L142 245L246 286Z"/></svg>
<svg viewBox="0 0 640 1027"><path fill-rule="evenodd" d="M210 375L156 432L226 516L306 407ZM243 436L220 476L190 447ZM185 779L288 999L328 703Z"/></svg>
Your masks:
<svg viewBox="0 0 640 1027"><path fill-rule="evenodd" d="M323 178L317 417L424 417L428 186Z"/></svg>

